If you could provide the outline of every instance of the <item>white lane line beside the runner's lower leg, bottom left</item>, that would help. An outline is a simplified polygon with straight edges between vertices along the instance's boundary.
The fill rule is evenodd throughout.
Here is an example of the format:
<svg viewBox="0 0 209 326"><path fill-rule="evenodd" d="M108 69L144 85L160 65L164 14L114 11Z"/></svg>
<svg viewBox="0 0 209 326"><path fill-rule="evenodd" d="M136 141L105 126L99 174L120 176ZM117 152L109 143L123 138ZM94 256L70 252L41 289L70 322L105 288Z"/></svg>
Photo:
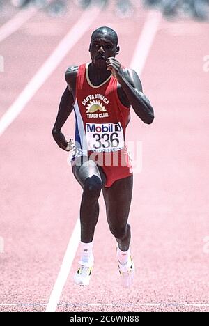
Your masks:
<svg viewBox="0 0 209 326"><path fill-rule="evenodd" d="M77 219L77 223L72 232L72 236L68 243L68 248L63 258L61 269L59 271L58 277L54 284L52 293L49 297L49 303L47 304L46 312L56 311L56 306L59 304L59 299L61 297L63 287L65 286L65 282L68 279L68 274L70 273L70 268L72 266L73 259L75 258L77 247L79 245L79 238L80 238L80 222L79 219Z"/></svg>

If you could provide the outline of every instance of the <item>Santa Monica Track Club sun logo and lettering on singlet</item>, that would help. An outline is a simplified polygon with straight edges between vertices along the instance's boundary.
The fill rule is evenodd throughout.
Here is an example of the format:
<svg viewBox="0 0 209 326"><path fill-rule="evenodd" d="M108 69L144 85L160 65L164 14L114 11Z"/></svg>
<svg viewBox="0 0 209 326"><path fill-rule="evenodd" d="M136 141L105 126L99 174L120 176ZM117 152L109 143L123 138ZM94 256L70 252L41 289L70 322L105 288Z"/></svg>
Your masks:
<svg viewBox="0 0 209 326"><path fill-rule="evenodd" d="M109 100L101 94L88 95L82 101L82 104L86 108L87 118L109 118L107 112L107 105ZM98 112L99 111L99 112Z"/></svg>

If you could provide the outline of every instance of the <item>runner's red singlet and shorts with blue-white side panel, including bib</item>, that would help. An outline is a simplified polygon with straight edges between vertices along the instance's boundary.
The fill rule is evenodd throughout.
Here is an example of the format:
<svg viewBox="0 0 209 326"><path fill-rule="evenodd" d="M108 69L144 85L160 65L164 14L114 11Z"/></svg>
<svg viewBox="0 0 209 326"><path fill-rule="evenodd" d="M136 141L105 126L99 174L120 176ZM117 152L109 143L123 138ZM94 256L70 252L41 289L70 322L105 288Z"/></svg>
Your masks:
<svg viewBox="0 0 209 326"><path fill-rule="evenodd" d="M125 144L125 130L130 108L121 104L117 79L112 75L99 86L88 77L88 65L80 65L75 94L76 150L72 164L79 156L88 156L101 166L107 178L105 187L132 175L130 155Z"/></svg>

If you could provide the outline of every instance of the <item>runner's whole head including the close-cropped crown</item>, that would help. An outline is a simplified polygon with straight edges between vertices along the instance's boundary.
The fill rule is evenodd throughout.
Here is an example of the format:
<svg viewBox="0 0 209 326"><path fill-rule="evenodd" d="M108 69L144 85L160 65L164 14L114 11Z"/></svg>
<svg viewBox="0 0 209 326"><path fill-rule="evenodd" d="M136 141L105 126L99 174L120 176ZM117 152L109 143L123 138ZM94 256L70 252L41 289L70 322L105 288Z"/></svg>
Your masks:
<svg viewBox="0 0 209 326"><path fill-rule="evenodd" d="M98 68L106 65L106 60L110 56L116 56L119 53L118 36L116 32L109 27L100 27L93 31L89 52L91 60Z"/></svg>

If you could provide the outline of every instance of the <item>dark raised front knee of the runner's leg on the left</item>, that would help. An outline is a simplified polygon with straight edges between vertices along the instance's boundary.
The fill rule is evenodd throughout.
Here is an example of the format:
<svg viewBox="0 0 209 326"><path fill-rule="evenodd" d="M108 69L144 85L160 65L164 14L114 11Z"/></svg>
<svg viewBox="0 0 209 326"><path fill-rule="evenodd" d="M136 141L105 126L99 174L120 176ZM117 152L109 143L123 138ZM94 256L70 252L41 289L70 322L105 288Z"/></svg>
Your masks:
<svg viewBox="0 0 209 326"><path fill-rule="evenodd" d="M87 178L84 183L84 194L88 196L89 200L98 199L102 189L102 181L98 176Z"/></svg>

